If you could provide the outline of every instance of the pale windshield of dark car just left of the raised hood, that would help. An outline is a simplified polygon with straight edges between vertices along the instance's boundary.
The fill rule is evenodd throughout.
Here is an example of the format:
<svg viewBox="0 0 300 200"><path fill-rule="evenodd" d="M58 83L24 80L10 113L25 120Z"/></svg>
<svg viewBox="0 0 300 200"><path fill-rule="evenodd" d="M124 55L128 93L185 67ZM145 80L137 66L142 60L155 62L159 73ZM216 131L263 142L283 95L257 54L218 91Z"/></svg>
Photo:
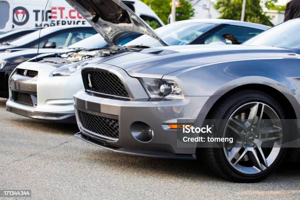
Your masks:
<svg viewBox="0 0 300 200"><path fill-rule="evenodd" d="M98 33L84 40L81 40L71 46L68 49L97 49L107 47L108 44L105 42L103 37Z"/></svg>

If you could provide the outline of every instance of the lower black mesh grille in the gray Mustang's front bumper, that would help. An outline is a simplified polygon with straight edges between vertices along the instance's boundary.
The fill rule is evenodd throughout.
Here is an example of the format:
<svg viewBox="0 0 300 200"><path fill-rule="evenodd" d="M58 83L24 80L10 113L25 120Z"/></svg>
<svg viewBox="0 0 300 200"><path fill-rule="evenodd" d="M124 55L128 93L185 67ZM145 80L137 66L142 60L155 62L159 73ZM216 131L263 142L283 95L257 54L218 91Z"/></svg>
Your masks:
<svg viewBox="0 0 300 200"><path fill-rule="evenodd" d="M84 129L100 136L119 139L119 120L100 117L78 110L78 117Z"/></svg>

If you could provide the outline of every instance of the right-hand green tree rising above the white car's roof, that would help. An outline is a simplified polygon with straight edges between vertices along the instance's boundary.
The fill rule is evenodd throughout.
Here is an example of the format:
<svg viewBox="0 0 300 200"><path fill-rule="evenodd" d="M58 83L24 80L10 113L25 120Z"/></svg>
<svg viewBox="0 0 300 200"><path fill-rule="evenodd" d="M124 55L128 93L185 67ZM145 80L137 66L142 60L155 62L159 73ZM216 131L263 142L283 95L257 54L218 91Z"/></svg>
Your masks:
<svg viewBox="0 0 300 200"><path fill-rule="evenodd" d="M243 0L218 0L215 8L221 13L221 19L240 20ZM265 15L260 0L247 0L245 21L263 25L271 25L270 18Z"/></svg>

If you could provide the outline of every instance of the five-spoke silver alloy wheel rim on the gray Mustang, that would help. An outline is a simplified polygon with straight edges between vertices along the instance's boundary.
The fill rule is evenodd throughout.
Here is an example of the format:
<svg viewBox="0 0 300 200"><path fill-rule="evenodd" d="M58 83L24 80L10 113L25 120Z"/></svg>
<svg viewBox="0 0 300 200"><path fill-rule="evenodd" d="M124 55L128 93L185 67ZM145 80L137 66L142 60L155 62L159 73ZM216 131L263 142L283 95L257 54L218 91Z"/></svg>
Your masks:
<svg viewBox="0 0 300 200"><path fill-rule="evenodd" d="M237 171L253 175L267 170L277 158L282 143L282 123L275 110L262 102L236 109L226 122L224 143L227 161Z"/></svg>

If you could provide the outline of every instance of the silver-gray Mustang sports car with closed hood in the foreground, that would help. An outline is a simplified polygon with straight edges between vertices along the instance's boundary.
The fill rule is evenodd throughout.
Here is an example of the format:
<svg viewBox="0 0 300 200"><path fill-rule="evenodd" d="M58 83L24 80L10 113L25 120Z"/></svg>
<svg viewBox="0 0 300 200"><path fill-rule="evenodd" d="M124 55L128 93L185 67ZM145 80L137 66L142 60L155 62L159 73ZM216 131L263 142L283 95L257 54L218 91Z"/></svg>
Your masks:
<svg viewBox="0 0 300 200"><path fill-rule="evenodd" d="M295 19L243 45L159 47L92 59L82 69L85 90L75 94L76 136L128 154L198 158L234 181L262 180L298 152L285 143L298 138L300 124L284 120L300 119L299 30ZM193 143L198 137L180 136L187 126L214 137Z"/></svg>

